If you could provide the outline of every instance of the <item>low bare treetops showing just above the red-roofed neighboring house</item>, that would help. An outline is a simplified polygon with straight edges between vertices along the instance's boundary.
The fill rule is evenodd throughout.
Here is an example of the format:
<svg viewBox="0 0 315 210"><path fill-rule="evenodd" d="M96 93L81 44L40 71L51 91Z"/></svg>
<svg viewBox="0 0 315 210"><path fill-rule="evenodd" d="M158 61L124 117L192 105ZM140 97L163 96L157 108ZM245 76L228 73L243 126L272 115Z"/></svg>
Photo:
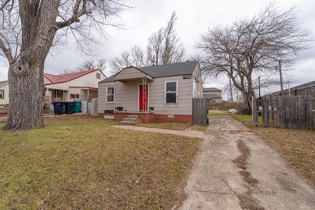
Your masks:
<svg viewBox="0 0 315 210"><path fill-rule="evenodd" d="M106 68L106 60L105 59L99 59L97 62L95 62L94 60L85 61L73 69L64 68L59 73L60 74L67 74L67 73L81 72L81 71L94 70L94 69L99 69L99 70L103 71L103 70L105 70L105 68Z"/></svg>

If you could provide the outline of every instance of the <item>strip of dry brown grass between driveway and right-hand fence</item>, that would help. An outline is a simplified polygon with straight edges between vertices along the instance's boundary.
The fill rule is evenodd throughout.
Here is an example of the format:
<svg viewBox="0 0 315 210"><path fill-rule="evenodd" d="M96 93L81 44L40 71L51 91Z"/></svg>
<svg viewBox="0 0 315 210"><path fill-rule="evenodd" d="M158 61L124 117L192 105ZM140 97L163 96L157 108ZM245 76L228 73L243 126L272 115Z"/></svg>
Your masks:
<svg viewBox="0 0 315 210"><path fill-rule="evenodd" d="M276 150L309 184L315 187L315 131L252 127L251 115L237 115L255 135Z"/></svg>

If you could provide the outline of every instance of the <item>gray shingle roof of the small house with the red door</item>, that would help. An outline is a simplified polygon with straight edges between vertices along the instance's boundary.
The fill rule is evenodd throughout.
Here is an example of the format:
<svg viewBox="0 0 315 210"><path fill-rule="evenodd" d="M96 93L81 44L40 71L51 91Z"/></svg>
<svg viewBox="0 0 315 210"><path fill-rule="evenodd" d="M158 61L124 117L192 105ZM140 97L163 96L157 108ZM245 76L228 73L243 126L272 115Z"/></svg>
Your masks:
<svg viewBox="0 0 315 210"><path fill-rule="evenodd" d="M151 66L151 67L141 67L137 68L138 70L148 74L153 78L165 77L165 76L178 76L178 75L187 75L192 74L195 70L198 62L197 61L186 61L182 63L176 64L166 64L159 66ZM128 68L128 67L127 67ZM126 68L125 68L126 69ZM100 81L102 82L113 82L116 74Z"/></svg>

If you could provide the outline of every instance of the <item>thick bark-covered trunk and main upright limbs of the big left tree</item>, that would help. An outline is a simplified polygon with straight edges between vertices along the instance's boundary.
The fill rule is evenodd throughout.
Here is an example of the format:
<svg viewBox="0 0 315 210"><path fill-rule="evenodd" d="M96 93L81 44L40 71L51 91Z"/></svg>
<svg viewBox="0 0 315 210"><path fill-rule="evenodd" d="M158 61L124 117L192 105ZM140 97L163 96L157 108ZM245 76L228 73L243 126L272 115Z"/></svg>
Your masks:
<svg viewBox="0 0 315 210"><path fill-rule="evenodd" d="M59 0L19 1L22 23L21 52L9 60L9 110L6 130L42 128L44 62L58 27Z"/></svg>

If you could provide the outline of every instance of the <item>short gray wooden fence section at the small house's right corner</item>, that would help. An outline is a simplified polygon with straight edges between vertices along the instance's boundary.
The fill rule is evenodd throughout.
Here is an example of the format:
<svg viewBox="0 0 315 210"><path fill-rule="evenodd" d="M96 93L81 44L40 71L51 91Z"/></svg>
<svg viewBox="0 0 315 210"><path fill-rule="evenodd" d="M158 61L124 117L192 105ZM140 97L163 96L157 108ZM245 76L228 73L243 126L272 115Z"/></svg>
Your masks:
<svg viewBox="0 0 315 210"><path fill-rule="evenodd" d="M207 99L192 99L192 124L207 125Z"/></svg>

